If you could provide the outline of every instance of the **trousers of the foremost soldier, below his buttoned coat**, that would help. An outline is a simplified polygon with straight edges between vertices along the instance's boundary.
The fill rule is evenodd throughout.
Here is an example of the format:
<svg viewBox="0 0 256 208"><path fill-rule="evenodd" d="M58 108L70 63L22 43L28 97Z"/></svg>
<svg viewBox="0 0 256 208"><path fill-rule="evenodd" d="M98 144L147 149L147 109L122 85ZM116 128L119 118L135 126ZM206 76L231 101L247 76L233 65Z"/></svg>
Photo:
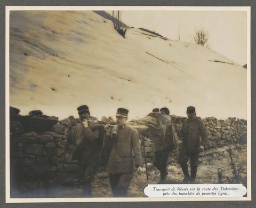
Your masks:
<svg viewBox="0 0 256 208"><path fill-rule="evenodd" d="M132 182L133 173L109 174L109 182L114 197L127 197L127 190Z"/></svg>

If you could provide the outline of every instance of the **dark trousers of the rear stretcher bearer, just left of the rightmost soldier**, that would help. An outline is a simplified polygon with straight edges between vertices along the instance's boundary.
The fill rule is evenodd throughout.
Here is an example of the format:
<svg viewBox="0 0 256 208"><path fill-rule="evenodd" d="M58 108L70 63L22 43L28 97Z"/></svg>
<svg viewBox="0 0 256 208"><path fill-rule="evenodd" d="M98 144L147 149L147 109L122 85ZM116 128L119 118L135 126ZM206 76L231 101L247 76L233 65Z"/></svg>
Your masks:
<svg viewBox="0 0 256 208"><path fill-rule="evenodd" d="M168 161L170 153L171 153L170 149L165 149L162 151L155 151L155 153L154 153L153 164L160 171L161 179L165 179L164 177L167 174L167 161Z"/></svg>

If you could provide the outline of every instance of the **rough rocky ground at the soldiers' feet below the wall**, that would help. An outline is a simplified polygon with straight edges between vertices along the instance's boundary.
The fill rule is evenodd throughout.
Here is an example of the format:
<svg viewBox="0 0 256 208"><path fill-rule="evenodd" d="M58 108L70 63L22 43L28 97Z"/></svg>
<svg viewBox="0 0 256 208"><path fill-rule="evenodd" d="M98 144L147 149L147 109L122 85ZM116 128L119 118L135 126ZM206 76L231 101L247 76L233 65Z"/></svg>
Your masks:
<svg viewBox="0 0 256 208"><path fill-rule="evenodd" d="M233 175L231 156L236 170L238 170L237 181ZM219 183L218 169L222 169L222 183L243 183L247 184L247 147L246 145L231 145L222 148L206 150L199 155L199 166L196 183ZM178 164L178 151L169 158L166 183L181 183L183 173ZM147 163L149 184L159 181L159 171L152 163ZM134 172L134 177L129 188L129 197L147 197L144 188L147 186L146 171L139 175ZM82 188L75 187L48 187L43 189L22 190L13 189L13 194L19 197L82 197ZM108 174L105 167L101 167L93 180L92 194L94 197L111 197Z"/></svg>

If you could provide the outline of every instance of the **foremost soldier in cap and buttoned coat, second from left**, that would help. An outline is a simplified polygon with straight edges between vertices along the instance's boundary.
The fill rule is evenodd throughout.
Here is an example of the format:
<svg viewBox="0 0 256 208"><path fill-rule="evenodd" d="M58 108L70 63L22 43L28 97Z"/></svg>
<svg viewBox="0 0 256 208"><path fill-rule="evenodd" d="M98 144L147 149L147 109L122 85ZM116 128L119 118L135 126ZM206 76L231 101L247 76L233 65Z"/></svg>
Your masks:
<svg viewBox="0 0 256 208"><path fill-rule="evenodd" d="M110 142L111 150L107 169L109 182L114 197L126 197L133 178L133 166L142 172L142 156L138 133L126 125L128 110L118 108L117 126L106 125L105 145ZM133 152L133 153L132 153ZM133 161L134 154L134 161Z"/></svg>

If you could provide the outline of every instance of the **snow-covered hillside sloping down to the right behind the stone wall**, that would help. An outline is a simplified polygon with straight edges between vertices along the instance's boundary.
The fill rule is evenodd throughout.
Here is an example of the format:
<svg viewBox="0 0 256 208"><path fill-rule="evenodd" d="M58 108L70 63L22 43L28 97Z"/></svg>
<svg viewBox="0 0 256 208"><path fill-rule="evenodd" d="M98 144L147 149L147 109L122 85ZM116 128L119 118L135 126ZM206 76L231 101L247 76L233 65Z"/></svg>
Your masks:
<svg viewBox="0 0 256 208"><path fill-rule="evenodd" d="M10 106L60 119L91 115L129 118L168 107L186 116L246 118L246 69L194 43L165 40L138 28L126 38L92 11L12 11Z"/></svg>

